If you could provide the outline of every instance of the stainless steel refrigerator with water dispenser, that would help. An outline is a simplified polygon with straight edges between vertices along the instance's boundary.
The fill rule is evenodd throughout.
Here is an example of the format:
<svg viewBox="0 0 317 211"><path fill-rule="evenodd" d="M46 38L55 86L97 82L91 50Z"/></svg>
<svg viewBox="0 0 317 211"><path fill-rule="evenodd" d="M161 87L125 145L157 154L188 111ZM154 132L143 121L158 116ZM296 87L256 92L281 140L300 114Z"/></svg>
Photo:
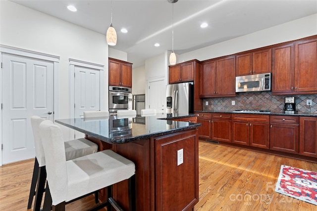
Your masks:
<svg viewBox="0 0 317 211"><path fill-rule="evenodd" d="M166 85L166 113L192 114L194 86L191 83Z"/></svg>

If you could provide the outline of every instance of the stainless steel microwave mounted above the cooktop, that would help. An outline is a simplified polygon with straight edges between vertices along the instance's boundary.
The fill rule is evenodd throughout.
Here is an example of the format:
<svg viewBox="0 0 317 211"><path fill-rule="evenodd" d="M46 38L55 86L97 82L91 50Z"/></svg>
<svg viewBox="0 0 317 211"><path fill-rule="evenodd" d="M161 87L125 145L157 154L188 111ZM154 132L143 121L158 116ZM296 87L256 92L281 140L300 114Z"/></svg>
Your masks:
<svg viewBox="0 0 317 211"><path fill-rule="evenodd" d="M271 73L236 77L236 92L271 90Z"/></svg>

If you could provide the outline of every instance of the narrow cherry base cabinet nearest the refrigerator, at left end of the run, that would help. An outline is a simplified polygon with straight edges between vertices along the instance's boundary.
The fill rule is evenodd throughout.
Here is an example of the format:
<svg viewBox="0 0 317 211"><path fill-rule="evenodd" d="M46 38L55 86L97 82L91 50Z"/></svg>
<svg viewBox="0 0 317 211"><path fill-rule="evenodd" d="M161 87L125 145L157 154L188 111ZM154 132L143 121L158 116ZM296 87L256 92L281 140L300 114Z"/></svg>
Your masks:
<svg viewBox="0 0 317 211"><path fill-rule="evenodd" d="M198 136L211 139L211 113L195 112L195 114L198 114L197 123L202 124L201 127L198 127Z"/></svg>

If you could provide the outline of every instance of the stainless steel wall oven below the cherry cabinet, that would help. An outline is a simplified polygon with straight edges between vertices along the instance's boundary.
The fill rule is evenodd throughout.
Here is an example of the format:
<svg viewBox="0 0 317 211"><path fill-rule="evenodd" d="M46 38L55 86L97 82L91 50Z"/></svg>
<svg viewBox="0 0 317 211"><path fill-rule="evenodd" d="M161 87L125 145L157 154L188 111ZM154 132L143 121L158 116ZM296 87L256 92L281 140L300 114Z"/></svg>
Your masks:
<svg viewBox="0 0 317 211"><path fill-rule="evenodd" d="M132 109L131 88L109 86L109 112Z"/></svg>

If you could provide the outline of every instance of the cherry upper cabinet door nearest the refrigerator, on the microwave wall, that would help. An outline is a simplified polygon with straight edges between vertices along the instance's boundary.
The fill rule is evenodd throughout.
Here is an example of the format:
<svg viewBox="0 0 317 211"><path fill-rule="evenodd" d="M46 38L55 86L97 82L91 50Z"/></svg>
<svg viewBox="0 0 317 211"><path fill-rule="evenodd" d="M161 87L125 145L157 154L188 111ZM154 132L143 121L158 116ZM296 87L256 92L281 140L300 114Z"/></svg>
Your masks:
<svg viewBox="0 0 317 211"><path fill-rule="evenodd" d="M199 71L199 96L214 95L216 91L216 61L202 63Z"/></svg>

